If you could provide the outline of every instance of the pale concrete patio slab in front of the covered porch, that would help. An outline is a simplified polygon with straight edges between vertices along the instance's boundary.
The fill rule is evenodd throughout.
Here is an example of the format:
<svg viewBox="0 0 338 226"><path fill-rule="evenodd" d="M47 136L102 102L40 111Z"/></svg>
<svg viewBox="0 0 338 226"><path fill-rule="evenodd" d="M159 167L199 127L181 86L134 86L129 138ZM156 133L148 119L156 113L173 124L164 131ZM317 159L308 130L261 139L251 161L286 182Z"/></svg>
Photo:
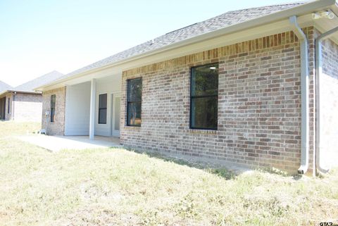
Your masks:
<svg viewBox="0 0 338 226"><path fill-rule="evenodd" d="M40 146L49 151L62 149L99 149L112 146L120 146L120 139L116 137L95 136L90 140L88 136L46 136L42 134L27 135L18 139Z"/></svg>

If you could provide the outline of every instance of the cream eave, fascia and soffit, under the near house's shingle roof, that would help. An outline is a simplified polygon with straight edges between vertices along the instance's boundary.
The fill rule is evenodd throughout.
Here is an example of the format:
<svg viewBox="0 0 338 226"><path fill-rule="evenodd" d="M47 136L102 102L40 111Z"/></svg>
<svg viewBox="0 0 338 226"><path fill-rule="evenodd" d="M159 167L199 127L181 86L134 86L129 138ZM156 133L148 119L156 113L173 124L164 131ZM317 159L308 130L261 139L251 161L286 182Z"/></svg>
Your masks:
<svg viewBox="0 0 338 226"><path fill-rule="evenodd" d="M208 32L206 34L201 34L197 37L192 37L190 39L185 39L182 42L177 42L174 44L170 44L164 46L163 48L156 49L154 51L146 52L145 54L140 54L138 56L134 56L131 58L127 58L123 61L118 61L116 63L111 63L108 65L104 65L100 68L94 68L92 70L87 70L83 73L75 74L71 77L67 77L63 80L58 80L56 82L52 82L50 84L46 84L42 87L37 87L37 90L44 91L49 89L55 89L57 87L62 87L65 84L68 84L68 80L74 80L79 77L83 77L83 81L90 79L90 77L100 76L101 73L97 74L97 72L101 70L106 70L106 76L116 74L117 71L122 72L123 70L127 70L130 68L136 68L141 65L148 65L150 63L161 62L168 60L170 58L175 58L178 56L184 56L187 54L193 54L199 51L213 49L218 46L224 46L229 44L234 44L238 42L243 42L245 40L254 39L261 36L266 36L270 34L276 34L280 32L289 31L289 16L299 15L299 25L301 27L306 27L309 25L313 25L313 20L311 19L311 14L314 11L321 11L327 8L332 8L337 6L332 6L335 4L335 0L320 0L320 1L311 1L308 4L304 4L301 6L296 6L294 8L290 8L284 11L280 11L277 13L273 13L270 15L263 16L261 18L256 18L253 20L246 21L244 23L239 23L236 25L232 25L229 27L224 27L219 30L215 30L213 32ZM308 15L306 15L308 14ZM231 35L233 37L231 37ZM222 39L227 42L219 42L218 39ZM225 40L226 39L226 40ZM218 40L218 41L217 41ZM208 42L207 45L206 42ZM218 43L217 43L218 42ZM212 43L213 45L210 45ZM200 46L200 47L198 47ZM177 52L180 54L170 54L171 52ZM165 58L161 58L161 54L165 52ZM154 57L157 61L151 61L151 57ZM139 60L142 59L142 63L139 63ZM111 70L115 68L116 70Z"/></svg>

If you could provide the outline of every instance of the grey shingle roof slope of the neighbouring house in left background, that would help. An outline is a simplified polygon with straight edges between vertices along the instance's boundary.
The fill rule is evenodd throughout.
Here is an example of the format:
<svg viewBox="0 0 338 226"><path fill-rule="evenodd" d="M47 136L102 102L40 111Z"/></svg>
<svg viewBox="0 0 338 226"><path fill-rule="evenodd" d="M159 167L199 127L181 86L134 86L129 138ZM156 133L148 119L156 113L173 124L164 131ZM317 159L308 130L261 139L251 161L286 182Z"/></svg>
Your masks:
<svg viewBox="0 0 338 226"><path fill-rule="evenodd" d="M34 89L37 87L41 87L44 84L47 84L49 82L54 82L55 80L58 80L61 76L63 76L62 73L59 73L56 70L53 70L51 73L48 73L46 75L42 75L41 77L37 77L35 80L30 80L29 82L26 82L24 84L20 84L18 87L15 87L11 90L13 91L20 91L20 92L34 92Z"/></svg>

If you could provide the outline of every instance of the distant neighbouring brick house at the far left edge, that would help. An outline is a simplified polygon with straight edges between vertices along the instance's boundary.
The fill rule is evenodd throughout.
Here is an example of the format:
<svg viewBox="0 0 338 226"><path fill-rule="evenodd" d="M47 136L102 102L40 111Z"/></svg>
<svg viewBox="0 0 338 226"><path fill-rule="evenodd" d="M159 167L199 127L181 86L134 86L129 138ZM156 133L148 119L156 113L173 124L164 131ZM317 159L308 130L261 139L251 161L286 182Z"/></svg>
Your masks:
<svg viewBox="0 0 338 226"><path fill-rule="evenodd" d="M5 87L0 91L0 120L41 122L42 93L34 88L53 82L63 74L52 71L18 87Z"/></svg>

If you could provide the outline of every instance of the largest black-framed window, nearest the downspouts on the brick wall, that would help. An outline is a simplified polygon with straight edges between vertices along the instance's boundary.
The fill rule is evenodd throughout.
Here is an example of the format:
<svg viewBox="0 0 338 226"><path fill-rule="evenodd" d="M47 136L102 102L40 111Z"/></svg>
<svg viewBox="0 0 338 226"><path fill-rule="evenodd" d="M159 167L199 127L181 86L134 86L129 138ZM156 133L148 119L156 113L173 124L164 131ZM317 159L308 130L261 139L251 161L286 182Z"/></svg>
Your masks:
<svg viewBox="0 0 338 226"><path fill-rule="evenodd" d="M218 63L194 67L190 77L190 128L217 130Z"/></svg>

